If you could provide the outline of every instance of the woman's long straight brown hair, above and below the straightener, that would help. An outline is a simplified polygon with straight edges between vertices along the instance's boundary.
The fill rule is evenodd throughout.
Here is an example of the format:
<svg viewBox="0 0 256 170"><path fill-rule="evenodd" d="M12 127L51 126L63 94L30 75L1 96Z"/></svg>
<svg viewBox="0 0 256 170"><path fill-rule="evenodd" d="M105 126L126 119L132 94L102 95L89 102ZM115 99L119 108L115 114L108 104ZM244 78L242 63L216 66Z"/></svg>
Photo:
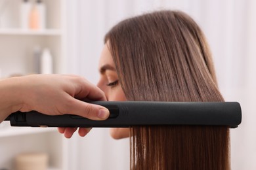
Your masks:
<svg viewBox="0 0 256 170"><path fill-rule="evenodd" d="M200 27L184 12L124 20L105 37L131 101L224 101ZM224 126L131 127L131 169L230 169Z"/></svg>

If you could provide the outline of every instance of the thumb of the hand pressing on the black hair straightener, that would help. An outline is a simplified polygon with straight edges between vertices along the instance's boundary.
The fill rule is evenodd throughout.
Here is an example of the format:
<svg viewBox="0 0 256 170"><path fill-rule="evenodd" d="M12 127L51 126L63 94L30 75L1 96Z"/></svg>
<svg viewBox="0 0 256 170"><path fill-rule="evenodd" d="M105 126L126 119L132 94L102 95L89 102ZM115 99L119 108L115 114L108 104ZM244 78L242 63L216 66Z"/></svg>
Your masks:
<svg viewBox="0 0 256 170"><path fill-rule="evenodd" d="M72 102L72 105L68 108L69 114L83 116L91 120L106 120L110 115L109 110L105 107L86 103L75 98L73 98L73 100L74 102Z"/></svg>

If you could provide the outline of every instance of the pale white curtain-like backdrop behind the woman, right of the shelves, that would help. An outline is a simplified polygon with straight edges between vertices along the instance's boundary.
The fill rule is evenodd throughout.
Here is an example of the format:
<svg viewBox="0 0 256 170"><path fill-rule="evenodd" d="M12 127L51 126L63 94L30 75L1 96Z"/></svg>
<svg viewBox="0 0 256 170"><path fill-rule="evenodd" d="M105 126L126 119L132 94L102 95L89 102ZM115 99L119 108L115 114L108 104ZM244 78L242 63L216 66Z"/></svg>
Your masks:
<svg viewBox="0 0 256 170"><path fill-rule="evenodd" d="M231 129L232 169L256 169L256 1L254 0L91 0L68 1L68 73L96 83L106 31L118 21L156 9L180 9L202 27L226 101L239 101L243 120ZM107 129L93 129L72 144L72 169L129 169L129 141L114 141ZM74 144L76 144L74 146ZM77 148L75 148L77 146ZM75 149L75 151L74 151Z"/></svg>

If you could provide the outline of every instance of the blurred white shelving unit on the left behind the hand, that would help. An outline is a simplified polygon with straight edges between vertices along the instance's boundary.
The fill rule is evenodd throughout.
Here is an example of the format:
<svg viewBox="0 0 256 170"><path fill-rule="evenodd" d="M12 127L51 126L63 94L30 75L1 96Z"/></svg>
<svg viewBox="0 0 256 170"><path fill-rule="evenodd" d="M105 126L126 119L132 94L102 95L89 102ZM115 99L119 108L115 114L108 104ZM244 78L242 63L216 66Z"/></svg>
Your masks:
<svg viewBox="0 0 256 170"><path fill-rule="evenodd" d="M37 3L36 0L28 0ZM45 4L45 28L20 26L20 6L24 0L0 1L0 71L1 77L35 73L35 48L49 49L53 56L53 73L66 73L65 19L66 0L42 0ZM1 78L0 77L0 78ZM14 169L14 158L26 152L49 155L51 170L67 170L66 141L56 128L10 127L0 124L0 169Z"/></svg>

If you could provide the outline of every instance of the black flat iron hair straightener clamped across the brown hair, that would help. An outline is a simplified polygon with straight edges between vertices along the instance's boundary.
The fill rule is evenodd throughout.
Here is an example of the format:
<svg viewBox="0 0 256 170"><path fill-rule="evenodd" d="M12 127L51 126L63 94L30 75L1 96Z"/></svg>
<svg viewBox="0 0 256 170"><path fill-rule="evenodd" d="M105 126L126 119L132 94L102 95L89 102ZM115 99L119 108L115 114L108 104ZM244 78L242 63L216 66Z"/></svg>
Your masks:
<svg viewBox="0 0 256 170"><path fill-rule="evenodd" d="M89 120L73 114L49 116L40 112L14 112L11 126L31 127L130 127L228 126L238 127L242 110L238 102L93 101L110 110L106 120Z"/></svg>

